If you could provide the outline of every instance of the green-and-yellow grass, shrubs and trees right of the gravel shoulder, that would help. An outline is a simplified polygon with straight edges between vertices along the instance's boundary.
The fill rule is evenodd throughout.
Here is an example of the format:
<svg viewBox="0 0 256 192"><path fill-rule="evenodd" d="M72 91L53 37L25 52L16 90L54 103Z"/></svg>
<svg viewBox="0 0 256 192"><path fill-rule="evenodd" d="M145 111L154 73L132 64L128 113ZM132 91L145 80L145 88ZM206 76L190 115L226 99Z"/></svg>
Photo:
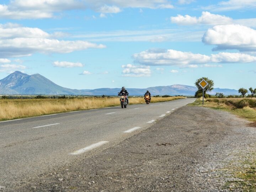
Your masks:
<svg viewBox="0 0 256 192"><path fill-rule="evenodd" d="M249 91L245 88L240 88L238 92L240 95L224 96L223 93L216 93L215 95L205 94L204 105L202 103L202 88L198 86L198 82L202 79L209 81L208 91L213 87L214 83L208 78L201 78L195 82L198 91L195 93L197 100L190 106L210 107L216 110L223 110L235 114L236 116L246 118L251 121L248 124L250 127L256 127L256 89L252 87ZM247 96L246 96L247 94ZM235 180L226 182L224 188L230 191L256 191L256 154L249 153L243 160L230 162L227 171Z"/></svg>

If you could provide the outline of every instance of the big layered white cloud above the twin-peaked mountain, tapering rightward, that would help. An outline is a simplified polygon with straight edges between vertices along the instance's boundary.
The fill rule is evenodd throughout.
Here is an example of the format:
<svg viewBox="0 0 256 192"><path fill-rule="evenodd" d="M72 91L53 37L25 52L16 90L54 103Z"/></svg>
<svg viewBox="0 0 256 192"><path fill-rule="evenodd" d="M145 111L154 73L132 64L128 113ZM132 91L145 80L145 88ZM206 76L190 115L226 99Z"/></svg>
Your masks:
<svg viewBox="0 0 256 192"><path fill-rule="evenodd" d="M87 41L64 41L39 28L0 25L0 57L22 57L33 53L70 53L88 48L105 48Z"/></svg>

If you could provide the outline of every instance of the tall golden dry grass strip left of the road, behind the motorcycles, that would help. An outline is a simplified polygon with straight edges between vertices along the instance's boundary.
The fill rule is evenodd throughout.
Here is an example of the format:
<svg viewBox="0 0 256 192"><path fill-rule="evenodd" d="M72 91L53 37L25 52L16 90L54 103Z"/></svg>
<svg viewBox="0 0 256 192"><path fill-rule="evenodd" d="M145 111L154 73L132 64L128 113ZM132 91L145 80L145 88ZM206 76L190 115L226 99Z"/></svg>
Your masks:
<svg viewBox="0 0 256 192"><path fill-rule="evenodd" d="M152 97L151 102L172 101L185 97ZM130 97L130 104L145 103L143 97ZM0 121L120 105L119 97L74 99L10 99L0 100Z"/></svg>

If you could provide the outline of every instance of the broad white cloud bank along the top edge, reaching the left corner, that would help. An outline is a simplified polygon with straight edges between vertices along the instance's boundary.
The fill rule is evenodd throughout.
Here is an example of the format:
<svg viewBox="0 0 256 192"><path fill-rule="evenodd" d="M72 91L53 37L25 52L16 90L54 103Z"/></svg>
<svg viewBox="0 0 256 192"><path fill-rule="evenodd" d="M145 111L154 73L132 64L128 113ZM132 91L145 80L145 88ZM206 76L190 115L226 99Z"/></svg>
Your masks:
<svg viewBox="0 0 256 192"><path fill-rule="evenodd" d="M168 0L12 0L0 4L0 18L52 18L65 10L92 9L101 13L118 13L121 8L172 9Z"/></svg>

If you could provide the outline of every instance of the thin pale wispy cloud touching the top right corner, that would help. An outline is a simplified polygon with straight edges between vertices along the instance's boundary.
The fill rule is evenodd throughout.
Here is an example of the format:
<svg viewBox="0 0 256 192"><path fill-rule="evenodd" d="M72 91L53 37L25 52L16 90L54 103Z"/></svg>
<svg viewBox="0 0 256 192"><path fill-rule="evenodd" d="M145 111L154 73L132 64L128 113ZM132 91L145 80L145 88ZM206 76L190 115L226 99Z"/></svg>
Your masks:
<svg viewBox="0 0 256 192"><path fill-rule="evenodd" d="M221 1L217 5L210 5L202 7L205 10L212 11L230 11L230 10L242 10L242 9L255 9L255 0L229 0Z"/></svg>

